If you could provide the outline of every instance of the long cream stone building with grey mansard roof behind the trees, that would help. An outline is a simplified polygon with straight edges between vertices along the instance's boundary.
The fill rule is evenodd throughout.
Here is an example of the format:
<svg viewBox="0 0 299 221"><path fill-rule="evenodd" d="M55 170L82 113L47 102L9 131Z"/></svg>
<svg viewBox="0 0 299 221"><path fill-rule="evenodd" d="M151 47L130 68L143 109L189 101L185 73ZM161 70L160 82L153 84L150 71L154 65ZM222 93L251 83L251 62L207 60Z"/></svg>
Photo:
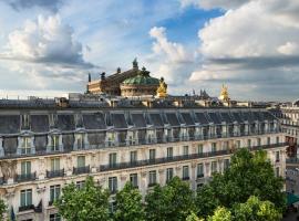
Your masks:
<svg viewBox="0 0 299 221"><path fill-rule="evenodd" d="M265 149L285 176L280 123L260 108L111 107L99 102L0 101L0 194L17 220L60 218L53 201L86 176L112 193L131 181L145 196L178 176L196 190L241 147Z"/></svg>

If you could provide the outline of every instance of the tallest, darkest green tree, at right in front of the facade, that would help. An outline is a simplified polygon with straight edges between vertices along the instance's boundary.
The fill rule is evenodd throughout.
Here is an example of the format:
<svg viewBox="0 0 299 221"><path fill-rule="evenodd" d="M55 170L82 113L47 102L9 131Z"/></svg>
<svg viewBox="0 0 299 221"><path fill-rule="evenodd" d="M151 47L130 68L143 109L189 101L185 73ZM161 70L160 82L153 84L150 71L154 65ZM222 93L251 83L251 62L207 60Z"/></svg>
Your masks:
<svg viewBox="0 0 299 221"><path fill-rule="evenodd" d="M231 157L230 167L224 173L214 173L213 180L206 188L197 192L197 207L200 213L203 199L213 199L225 208L233 208L236 203L244 203L250 196L257 196L260 200L269 200L282 212L286 206L286 197L282 192L283 180L276 177L274 168L267 160L266 151L258 150L255 154L246 148L238 149ZM209 202L213 206L213 203ZM215 206L214 206L215 207ZM213 207L206 208L205 213L212 214ZM206 214L204 214L206 215Z"/></svg>

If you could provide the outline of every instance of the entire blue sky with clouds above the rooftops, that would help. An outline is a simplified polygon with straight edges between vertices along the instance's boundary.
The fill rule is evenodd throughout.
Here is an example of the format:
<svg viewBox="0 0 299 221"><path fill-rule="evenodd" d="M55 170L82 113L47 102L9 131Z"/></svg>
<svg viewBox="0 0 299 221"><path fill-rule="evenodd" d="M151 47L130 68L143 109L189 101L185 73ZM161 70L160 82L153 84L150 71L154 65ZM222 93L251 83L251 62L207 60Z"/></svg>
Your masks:
<svg viewBox="0 0 299 221"><path fill-rule="evenodd" d="M299 96L298 0L0 0L0 97L83 93L137 57L169 94Z"/></svg>

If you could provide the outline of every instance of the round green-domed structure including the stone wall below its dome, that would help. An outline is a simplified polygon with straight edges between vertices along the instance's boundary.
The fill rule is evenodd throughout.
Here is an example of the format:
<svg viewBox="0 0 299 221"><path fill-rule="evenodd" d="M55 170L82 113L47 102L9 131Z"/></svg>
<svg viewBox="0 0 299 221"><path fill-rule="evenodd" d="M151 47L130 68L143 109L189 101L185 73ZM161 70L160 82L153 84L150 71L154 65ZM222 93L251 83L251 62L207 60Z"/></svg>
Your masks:
<svg viewBox="0 0 299 221"><path fill-rule="evenodd" d="M136 76L126 78L121 84L122 96L142 96L156 95L159 86L159 80L150 76L150 72L145 67L138 72Z"/></svg>

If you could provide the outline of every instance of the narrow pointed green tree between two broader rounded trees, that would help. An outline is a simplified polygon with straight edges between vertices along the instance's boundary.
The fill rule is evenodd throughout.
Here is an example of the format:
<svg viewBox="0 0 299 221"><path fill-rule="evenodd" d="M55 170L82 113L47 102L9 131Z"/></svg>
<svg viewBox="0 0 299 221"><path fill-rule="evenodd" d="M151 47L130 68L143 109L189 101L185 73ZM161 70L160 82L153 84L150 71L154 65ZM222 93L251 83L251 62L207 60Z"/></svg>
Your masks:
<svg viewBox="0 0 299 221"><path fill-rule="evenodd" d="M144 221L145 212L142 204L142 194L138 189L127 182L124 188L116 193L116 221Z"/></svg>

